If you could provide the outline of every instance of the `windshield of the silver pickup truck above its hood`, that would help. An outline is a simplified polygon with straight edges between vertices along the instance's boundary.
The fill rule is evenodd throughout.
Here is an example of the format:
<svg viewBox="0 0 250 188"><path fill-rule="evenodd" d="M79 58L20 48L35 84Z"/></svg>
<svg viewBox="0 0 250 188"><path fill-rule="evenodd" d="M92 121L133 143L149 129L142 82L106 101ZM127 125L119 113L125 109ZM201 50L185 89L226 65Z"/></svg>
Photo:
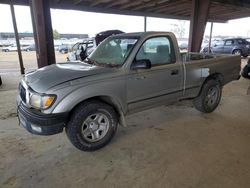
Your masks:
<svg viewBox="0 0 250 188"><path fill-rule="evenodd" d="M121 66L133 49L138 38L112 37L103 41L89 59L104 65Z"/></svg>

